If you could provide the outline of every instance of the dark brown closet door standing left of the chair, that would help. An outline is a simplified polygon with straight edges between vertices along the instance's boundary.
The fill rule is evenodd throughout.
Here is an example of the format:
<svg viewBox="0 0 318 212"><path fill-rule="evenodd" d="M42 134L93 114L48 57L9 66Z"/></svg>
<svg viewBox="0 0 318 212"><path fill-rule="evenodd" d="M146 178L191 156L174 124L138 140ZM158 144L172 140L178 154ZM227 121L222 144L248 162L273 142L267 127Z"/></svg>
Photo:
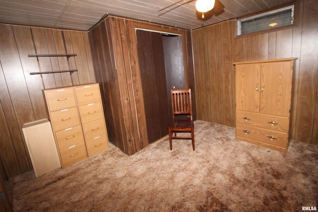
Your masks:
<svg viewBox="0 0 318 212"><path fill-rule="evenodd" d="M137 30L137 48L141 72L148 142L168 134L168 103L162 35Z"/></svg>

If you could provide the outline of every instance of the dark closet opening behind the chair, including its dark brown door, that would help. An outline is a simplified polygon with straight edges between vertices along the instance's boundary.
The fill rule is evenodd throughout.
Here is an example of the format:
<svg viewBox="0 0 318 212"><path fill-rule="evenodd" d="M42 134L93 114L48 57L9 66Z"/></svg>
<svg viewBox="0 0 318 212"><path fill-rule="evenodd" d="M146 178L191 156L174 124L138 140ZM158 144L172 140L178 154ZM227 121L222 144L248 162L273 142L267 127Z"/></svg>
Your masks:
<svg viewBox="0 0 318 212"><path fill-rule="evenodd" d="M185 88L181 36L136 30L148 141L168 134L170 89Z"/></svg>

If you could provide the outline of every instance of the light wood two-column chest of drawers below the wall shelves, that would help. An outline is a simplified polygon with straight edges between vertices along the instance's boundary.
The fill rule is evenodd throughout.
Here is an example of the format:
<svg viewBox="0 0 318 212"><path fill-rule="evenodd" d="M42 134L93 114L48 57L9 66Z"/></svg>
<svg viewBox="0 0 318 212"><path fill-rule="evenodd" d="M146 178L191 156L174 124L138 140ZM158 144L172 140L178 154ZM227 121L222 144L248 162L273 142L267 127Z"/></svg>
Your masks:
<svg viewBox="0 0 318 212"><path fill-rule="evenodd" d="M62 168L108 148L99 84L44 90Z"/></svg>

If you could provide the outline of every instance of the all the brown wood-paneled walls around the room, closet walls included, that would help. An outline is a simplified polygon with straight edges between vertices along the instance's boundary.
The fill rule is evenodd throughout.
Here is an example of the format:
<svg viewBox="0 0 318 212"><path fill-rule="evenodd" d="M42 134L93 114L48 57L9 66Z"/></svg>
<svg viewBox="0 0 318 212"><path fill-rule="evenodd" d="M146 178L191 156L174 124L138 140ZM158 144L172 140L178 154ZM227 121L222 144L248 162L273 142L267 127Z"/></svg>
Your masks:
<svg viewBox="0 0 318 212"><path fill-rule="evenodd" d="M181 34L185 84L194 93L196 119L231 127L235 127L233 63L297 58L290 138L318 144L317 11L317 0L300 0L296 11L298 27L237 38L235 21L192 32L121 17L106 17L89 33L0 24L2 179L32 169L22 126L48 117L43 84L45 88L72 85L69 73L45 74L43 80L40 75L29 74L40 69L78 69L73 73L75 85L98 81L110 141L127 154L148 145L135 27ZM66 52L78 56L70 58L70 63L60 57L28 57Z"/></svg>

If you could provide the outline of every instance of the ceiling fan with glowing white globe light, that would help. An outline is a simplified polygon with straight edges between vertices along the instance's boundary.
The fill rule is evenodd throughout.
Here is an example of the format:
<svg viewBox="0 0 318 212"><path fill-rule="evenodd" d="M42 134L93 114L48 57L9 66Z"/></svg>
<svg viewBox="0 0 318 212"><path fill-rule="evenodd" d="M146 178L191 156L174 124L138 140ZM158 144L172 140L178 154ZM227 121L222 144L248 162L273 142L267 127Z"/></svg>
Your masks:
<svg viewBox="0 0 318 212"><path fill-rule="evenodd" d="M181 3L182 1L184 1L184 2ZM172 3L166 7L163 7L162 9L159 9L158 11L163 11L165 9L168 9L169 7L174 6L170 9L166 10L165 12L159 14L158 16L163 15L163 14L165 14L165 13L167 13L175 8L178 8L184 4L190 3L192 1L195 1L195 0L186 0L186 1L185 0L178 0L175 3ZM178 3L180 3L180 4L178 4ZM176 4L178 4L178 5L176 5ZM202 12L202 19L204 18L204 13L207 11L210 11L213 9L214 13L217 14L217 13L223 11L223 9L224 9L224 5L220 0L196 0L195 7L196 7L198 12Z"/></svg>

